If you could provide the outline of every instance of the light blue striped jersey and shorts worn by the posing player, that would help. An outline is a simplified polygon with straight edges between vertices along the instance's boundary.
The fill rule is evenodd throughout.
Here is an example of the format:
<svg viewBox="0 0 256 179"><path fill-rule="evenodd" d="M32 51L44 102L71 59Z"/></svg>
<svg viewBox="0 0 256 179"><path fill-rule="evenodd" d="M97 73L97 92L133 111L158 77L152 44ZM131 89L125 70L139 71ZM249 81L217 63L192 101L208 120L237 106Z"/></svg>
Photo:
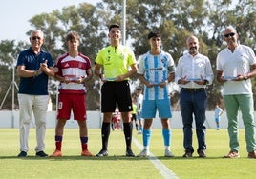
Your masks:
<svg viewBox="0 0 256 179"><path fill-rule="evenodd" d="M169 73L174 72L174 61L172 56L164 51L159 55L152 55L150 52L143 54L139 59L139 74L151 84L160 84L167 80ZM144 88L142 118L154 118L156 111L159 111L160 118L172 117L170 108L170 95L168 86Z"/></svg>

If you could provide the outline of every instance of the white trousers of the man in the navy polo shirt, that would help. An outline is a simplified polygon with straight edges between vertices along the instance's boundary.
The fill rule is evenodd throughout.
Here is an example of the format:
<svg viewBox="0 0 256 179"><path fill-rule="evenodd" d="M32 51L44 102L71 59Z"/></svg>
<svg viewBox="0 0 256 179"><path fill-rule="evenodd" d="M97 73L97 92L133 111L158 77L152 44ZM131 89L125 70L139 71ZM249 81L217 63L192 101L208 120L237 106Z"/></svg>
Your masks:
<svg viewBox="0 0 256 179"><path fill-rule="evenodd" d="M35 151L45 149L46 113L48 108L49 95L18 94L19 101L19 133L20 151L29 151L29 133L32 122L32 112L36 127Z"/></svg>

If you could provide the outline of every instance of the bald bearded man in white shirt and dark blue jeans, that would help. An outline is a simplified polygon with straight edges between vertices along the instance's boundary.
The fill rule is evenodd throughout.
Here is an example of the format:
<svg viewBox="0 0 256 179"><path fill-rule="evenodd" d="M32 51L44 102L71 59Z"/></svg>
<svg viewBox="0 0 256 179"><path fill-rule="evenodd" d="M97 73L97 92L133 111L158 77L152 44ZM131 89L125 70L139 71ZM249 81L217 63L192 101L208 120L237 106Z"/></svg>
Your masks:
<svg viewBox="0 0 256 179"><path fill-rule="evenodd" d="M183 123L183 157L192 157L194 148L192 146L192 124L193 114L196 122L196 133L198 138L197 152L199 157L206 157L205 133L205 109L206 109L206 85L212 84L213 71L208 57L199 53L199 40L190 36L186 40L188 53L179 59L175 71L175 82L181 87L180 106Z"/></svg>

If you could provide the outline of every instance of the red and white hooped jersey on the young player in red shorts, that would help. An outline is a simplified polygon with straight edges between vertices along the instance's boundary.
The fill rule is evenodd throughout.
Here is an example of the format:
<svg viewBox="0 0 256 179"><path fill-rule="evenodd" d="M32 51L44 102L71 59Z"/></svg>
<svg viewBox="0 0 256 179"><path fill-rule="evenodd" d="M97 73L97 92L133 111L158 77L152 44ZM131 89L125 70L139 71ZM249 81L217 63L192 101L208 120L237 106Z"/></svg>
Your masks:
<svg viewBox="0 0 256 179"><path fill-rule="evenodd" d="M55 74L74 80L80 76L87 77L86 70L88 69L91 69L91 61L87 56L80 52L75 58L70 56L69 53L59 56L54 66ZM61 82L59 92L85 93L86 88L84 84L77 84L75 82L66 84Z"/></svg>

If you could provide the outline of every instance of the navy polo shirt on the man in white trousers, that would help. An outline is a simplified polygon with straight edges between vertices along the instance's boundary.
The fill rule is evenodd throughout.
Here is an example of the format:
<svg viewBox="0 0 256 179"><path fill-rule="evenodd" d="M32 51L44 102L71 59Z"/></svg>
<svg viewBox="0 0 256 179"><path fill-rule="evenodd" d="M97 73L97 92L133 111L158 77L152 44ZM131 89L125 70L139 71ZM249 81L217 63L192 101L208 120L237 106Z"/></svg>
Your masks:
<svg viewBox="0 0 256 179"><path fill-rule="evenodd" d="M53 67L53 57L49 52L40 50L39 53L35 54L32 48L29 48L19 53L17 66L25 66L25 70L38 70L40 64L45 63L46 60L47 66ZM48 95L48 78L45 72L35 77L20 77L18 93Z"/></svg>

